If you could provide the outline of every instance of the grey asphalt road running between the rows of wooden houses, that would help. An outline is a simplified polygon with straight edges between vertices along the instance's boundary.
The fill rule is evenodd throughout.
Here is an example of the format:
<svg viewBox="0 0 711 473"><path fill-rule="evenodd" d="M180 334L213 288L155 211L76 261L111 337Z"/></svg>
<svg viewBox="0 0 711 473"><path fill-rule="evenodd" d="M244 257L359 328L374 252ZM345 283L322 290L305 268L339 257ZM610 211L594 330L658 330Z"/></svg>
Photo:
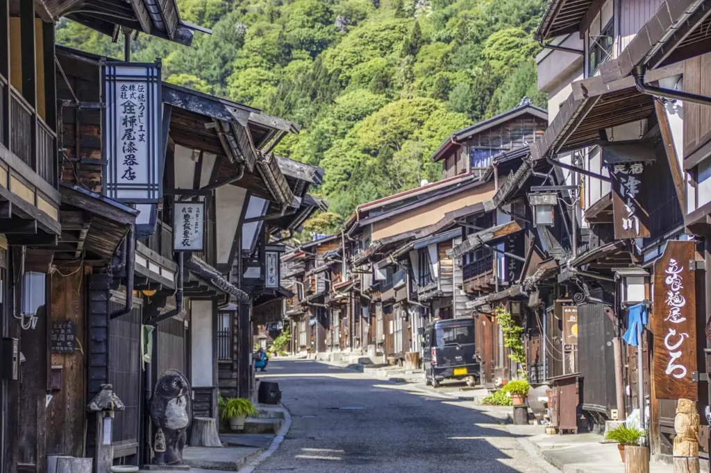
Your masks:
<svg viewBox="0 0 711 473"><path fill-rule="evenodd" d="M545 473L501 421L463 403L315 361L269 361L293 423L263 473Z"/></svg>

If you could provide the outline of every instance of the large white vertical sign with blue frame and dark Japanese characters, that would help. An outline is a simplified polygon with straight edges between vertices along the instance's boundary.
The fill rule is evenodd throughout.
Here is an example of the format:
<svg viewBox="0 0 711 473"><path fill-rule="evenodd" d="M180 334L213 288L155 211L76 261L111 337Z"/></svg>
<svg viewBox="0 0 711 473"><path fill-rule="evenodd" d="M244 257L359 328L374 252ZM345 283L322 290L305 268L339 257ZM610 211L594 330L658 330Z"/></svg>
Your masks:
<svg viewBox="0 0 711 473"><path fill-rule="evenodd" d="M104 62L103 192L130 204L163 194L161 64Z"/></svg>

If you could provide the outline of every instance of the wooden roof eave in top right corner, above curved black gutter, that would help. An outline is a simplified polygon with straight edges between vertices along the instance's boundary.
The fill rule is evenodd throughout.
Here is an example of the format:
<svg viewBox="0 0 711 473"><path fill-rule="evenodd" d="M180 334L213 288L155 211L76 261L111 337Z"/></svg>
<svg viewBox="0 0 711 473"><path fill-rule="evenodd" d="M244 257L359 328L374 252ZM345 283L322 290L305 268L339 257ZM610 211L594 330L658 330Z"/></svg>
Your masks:
<svg viewBox="0 0 711 473"><path fill-rule="evenodd" d="M618 58L600 65L604 82L628 76L636 65L653 70L708 51L711 1L665 0ZM651 82L649 75L647 82Z"/></svg>

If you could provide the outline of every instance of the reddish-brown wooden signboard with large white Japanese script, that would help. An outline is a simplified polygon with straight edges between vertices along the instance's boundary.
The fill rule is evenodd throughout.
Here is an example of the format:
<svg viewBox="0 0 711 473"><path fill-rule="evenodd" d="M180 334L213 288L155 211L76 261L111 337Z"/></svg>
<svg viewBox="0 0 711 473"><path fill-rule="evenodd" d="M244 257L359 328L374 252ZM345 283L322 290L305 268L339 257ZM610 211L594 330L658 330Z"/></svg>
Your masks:
<svg viewBox="0 0 711 473"><path fill-rule="evenodd" d="M693 241L667 242L654 263L654 388L658 399L697 401L696 291Z"/></svg>

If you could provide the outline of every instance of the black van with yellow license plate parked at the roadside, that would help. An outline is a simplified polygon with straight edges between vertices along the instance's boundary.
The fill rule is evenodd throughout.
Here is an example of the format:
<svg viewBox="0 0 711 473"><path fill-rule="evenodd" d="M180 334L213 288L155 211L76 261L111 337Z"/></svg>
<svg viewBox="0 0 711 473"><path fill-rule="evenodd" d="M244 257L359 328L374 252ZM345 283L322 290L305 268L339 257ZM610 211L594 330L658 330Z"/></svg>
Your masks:
<svg viewBox="0 0 711 473"><path fill-rule="evenodd" d="M479 359L474 354L474 319L437 320L423 329L424 381L435 388L444 379L479 383Z"/></svg>

